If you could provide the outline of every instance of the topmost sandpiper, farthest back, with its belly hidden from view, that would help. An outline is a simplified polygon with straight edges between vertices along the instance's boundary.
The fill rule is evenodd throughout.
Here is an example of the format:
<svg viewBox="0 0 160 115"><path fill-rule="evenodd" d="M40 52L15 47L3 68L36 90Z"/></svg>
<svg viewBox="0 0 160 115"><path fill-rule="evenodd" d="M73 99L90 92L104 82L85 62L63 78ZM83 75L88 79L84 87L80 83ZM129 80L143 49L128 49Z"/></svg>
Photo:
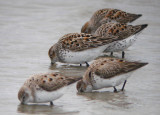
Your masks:
<svg viewBox="0 0 160 115"><path fill-rule="evenodd" d="M82 26L81 32L94 34L102 24L108 22L129 23L141 16L142 14L127 13L118 9L100 9L96 11L91 19Z"/></svg>

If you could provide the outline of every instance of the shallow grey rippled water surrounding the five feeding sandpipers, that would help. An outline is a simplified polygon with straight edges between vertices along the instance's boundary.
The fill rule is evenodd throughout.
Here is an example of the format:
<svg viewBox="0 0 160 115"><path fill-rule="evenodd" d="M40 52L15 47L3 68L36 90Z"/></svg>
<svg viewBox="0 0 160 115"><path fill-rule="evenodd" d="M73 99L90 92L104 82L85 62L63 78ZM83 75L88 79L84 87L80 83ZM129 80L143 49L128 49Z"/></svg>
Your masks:
<svg viewBox="0 0 160 115"><path fill-rule="evenodd" d="M113 88L108 88L78 94L73 84L62 98L54 101L54 107L48 103L20 105L17 92L32 74L84 74L85 65L51 66L48 49L64 34L80 32L93 12L101 8L143 14L133 24L149 26L126 51L126 59L149 64L132 74L124 92L113 93ZM0 0L0 114L159 115L159 12L159 0Z"/></svg>

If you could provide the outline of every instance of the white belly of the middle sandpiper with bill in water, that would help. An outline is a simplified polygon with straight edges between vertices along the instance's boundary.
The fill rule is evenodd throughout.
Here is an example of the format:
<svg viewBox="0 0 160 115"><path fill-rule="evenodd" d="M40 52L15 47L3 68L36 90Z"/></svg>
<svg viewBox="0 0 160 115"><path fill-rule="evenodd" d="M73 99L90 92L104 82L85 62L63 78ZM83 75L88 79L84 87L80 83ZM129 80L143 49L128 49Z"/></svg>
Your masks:
<svg viewBox="0 0 160 115"><path fill-rule="evenodd" d="M98 56L100 56L101 53L106 49L106 47L108 47L108 45L104 45L104 46L100 46L100 47L92 48L92 49L87 49L83 51L67 52L64 55L65 62L75 63L75 64L89 62L91 60L94 60Z"/></svg>

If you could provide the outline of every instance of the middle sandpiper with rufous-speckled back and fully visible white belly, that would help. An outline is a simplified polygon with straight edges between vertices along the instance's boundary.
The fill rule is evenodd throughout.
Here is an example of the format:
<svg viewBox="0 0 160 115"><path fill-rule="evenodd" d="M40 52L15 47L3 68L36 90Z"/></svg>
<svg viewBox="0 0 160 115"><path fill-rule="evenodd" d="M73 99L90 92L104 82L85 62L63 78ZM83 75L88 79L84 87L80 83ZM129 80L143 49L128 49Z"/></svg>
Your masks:
<svg viewBox="0 0 160 115"><path fill-rule="evenodd" d="M66 34L49 49L48 55L52 64L86 63L89 66L87 62L100 56L110 43L122 39L112 35L103 38L85 33Z"/></svg>

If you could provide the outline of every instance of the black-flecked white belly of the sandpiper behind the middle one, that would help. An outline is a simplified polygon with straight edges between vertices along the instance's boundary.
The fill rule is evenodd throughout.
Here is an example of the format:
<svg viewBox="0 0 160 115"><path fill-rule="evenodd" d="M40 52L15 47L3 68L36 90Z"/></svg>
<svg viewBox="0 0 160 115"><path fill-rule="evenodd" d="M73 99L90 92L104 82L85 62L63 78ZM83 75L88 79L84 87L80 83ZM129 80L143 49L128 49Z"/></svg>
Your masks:
<svg viewBox="0 0 160 115"><path fill-rule="evenodd" d="M130 47L137 39L137 35L130 36L124 40L115 41L105 49L105 52L119 52L124 51Z"/></svg>

